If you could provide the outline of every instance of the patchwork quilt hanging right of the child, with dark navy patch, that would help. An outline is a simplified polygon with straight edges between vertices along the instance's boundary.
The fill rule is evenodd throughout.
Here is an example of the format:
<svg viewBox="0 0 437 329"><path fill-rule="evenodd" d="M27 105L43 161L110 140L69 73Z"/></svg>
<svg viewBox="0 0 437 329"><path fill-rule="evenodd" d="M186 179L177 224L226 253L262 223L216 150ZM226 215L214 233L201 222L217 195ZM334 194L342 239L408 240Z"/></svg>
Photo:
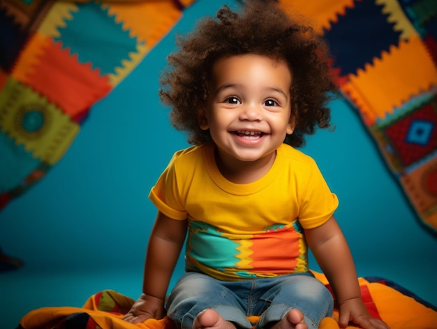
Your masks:
<svg viewBox="0 0 437 329"><path fill-rule="evenodd" d="M437 231L434 0L280 0L313 17L341 92L360 113L417 216Z"/></svg>

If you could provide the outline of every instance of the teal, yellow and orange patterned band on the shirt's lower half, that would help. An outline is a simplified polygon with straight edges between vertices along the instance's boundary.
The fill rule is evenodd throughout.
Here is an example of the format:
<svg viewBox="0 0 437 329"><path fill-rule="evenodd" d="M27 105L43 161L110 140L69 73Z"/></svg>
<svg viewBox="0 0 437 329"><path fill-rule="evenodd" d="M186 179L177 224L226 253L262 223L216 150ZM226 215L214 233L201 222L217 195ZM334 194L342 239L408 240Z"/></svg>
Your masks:
<svg viewBox="0 0 437 329"><path fill-rule="evenodd" d="M223 233L205 222L190 221L186 268L217 279L276 277L306 272L306 250L298 221L255 234Z"/></svg>

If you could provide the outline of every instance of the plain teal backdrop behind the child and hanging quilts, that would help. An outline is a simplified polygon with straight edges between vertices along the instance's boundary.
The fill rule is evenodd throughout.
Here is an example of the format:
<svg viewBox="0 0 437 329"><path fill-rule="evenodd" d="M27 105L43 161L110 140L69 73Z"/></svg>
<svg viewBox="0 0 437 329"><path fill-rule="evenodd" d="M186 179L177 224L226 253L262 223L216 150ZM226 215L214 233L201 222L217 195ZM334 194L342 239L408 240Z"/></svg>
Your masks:
<svg viewBox="0 0 437 329"><path fill-rule="evenodd" d="M0 329L38 307L77 306L105 288L137 298L156 209L149 189L173 152L188 146L158 99L158 76L175 34L213 15L222 0L198 0L144 61L91 110L66 156L0 212L0 245L25 261L0 273ZM228 1L237 6L237 1ZM340 200L336 218L359 276L390 279L437 305L437 238L413 212L348 103L333 101L332 132L302 148ZM319 270L310 256L310 267ZM172 279L183 272L179 261Z"/></svg>

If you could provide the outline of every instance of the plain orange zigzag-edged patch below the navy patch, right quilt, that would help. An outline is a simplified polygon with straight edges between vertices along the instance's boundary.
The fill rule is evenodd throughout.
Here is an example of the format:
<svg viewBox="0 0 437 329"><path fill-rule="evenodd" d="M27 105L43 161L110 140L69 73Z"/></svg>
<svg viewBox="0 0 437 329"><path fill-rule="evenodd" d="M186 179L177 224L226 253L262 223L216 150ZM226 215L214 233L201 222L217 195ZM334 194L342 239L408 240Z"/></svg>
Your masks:
<svg viewBox="0 0 437 329"><path fill-rule="evenodd" d="M367 64L356 76L350 75L342 91L370 126L435 85L437 68L420 38L413 37L408 42L401 41L399 47L391 46L390 53L383 52L381 59L375 58L373 66Z"/></svg>

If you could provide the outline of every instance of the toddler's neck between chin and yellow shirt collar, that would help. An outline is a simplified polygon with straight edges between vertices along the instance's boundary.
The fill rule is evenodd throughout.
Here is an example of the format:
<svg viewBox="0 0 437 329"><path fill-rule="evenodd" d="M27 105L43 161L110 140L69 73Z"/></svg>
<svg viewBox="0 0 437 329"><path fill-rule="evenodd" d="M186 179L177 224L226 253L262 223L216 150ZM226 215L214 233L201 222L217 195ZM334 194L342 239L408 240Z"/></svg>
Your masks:
<svg viewBox="0 0 437 329"><path fill-rule="evenodd" d="M276 158L276 151L257 161L239 161L235 158L223 156L216 149L215 158L218 170L226 180L235 184L249 184L268 173Z"/></svg>

